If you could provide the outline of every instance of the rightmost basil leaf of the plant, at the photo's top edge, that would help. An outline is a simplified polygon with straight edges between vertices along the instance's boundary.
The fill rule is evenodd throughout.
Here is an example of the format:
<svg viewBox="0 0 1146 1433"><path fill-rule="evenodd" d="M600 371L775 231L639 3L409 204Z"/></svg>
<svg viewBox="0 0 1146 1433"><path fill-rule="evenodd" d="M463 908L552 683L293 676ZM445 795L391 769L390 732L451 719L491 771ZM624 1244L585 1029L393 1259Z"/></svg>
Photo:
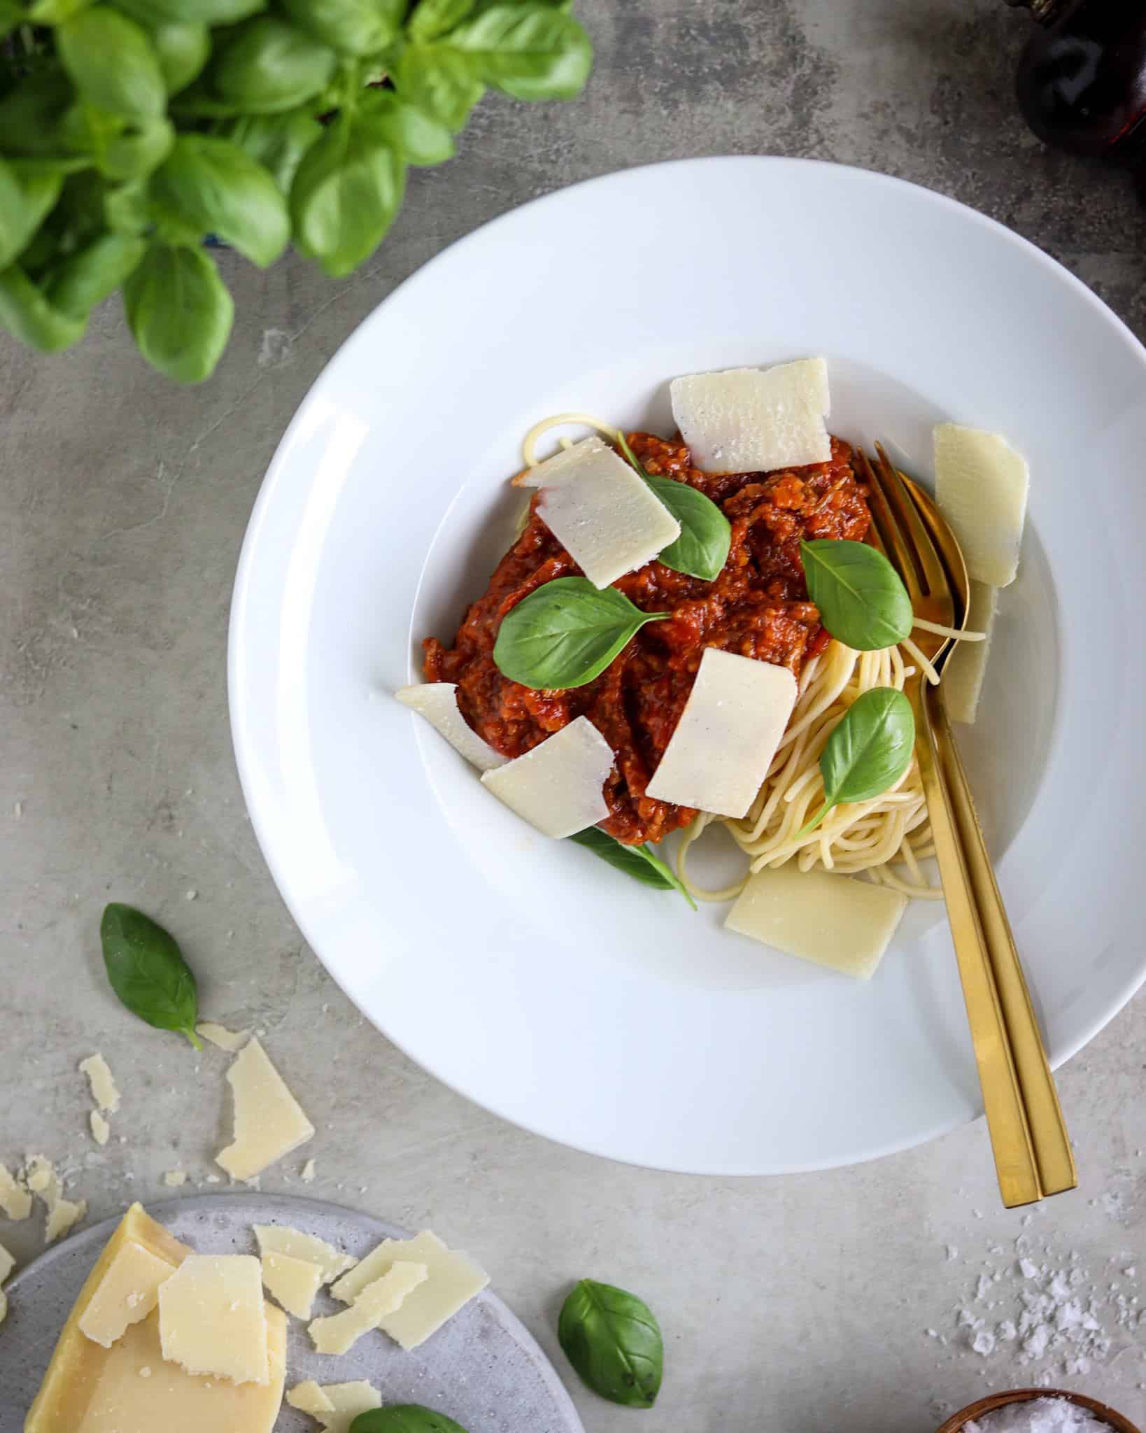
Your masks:
<svg viewBox="0 0 1146 1433"><path fill-rule="evenodd" d="M454 49L477 75L514 99L573 99L593 67L593 46L570 14L550 6L501 4L458 26Z"/></svg>

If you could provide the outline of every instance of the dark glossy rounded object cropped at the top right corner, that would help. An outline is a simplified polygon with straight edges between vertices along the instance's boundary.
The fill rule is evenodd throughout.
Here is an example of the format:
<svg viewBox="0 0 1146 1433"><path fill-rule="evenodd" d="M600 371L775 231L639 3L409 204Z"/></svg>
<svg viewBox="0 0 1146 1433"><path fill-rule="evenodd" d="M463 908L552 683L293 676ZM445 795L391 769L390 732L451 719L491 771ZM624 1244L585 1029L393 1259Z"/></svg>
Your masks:
<svg viewBox="0 0 1146 1433"><path fill-rule="evenodd" d="M1019 62L1019 107L1040 139L1077 155L1146 158L1146 3L1008 0L1040 23Z"/></svg>

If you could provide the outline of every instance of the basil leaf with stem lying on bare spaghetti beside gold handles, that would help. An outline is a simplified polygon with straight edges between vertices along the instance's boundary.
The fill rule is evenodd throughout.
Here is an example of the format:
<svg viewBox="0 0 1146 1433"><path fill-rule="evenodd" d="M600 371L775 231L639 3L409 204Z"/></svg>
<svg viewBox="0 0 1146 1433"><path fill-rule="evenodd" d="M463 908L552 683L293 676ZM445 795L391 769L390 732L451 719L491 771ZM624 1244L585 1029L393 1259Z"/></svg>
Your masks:
<svg viewBox="0 0 1146 1433"><path fill-rule="evenodd" d="M858 696L828 737L819 757L824 807L799 833L814 831L832 807L870 801L894 787L911 764L915 716L894 686L874 686Z"/></svg>

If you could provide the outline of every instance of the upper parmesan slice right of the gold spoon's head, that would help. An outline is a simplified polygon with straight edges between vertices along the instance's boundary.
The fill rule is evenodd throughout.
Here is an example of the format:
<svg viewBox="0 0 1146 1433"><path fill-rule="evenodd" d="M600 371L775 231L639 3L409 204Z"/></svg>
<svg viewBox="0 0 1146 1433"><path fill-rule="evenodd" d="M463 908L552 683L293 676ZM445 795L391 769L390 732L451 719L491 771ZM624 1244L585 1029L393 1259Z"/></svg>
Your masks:
<svg viewBox="0 0 1146 1433"><path fill-rule="evenodd" d="M937 424L934 446L935 502L963 549L967 576L1008 586L1027 516L1026 459L998 433L957 423Z"/></svg>

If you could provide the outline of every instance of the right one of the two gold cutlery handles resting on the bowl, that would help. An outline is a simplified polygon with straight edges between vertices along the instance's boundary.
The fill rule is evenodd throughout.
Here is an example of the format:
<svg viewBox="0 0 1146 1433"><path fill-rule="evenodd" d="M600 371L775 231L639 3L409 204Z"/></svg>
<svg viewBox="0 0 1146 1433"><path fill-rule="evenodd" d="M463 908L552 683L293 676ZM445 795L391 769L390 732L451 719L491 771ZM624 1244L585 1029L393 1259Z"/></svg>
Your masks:
<svg viewBox="0 0 1146 1433"><path fill-rule="evenodd" d="M983 840L983 828L976 815L967 775L943 698L934 688L930 688L923 694L923 701L930 708L938 765L958 828L964 866L994 974L998 1005L1010 1037L1011 1056L1023 1092L1039 1166L1039 1182L1044 1195L1061 1194L1064 1189L1076 1188L1079 1176L1054 1078L1050 1073L1043 1037L1019 960L1019 950L1014 944L1003 897L998 894L987 844Z"/></svg>

